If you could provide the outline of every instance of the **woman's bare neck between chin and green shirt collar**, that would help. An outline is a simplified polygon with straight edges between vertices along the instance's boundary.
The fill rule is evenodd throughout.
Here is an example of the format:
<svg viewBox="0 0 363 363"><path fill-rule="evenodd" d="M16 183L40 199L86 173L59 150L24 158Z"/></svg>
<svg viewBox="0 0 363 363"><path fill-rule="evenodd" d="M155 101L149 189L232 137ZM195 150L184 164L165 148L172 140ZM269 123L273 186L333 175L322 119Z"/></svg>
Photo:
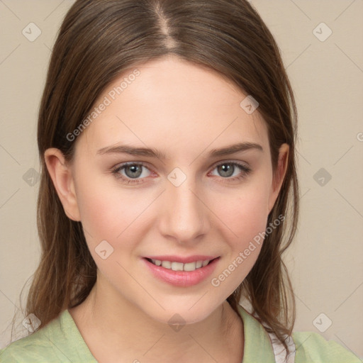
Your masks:
<svg viewBox="0 0 363 363"><path fill-rule="evenodd" d="M227 301L206 319L176 328L96 282L86 300L69 313L99 362L151 363L161 357L163 362L181 363L242 361L242 320Z"/></svg>

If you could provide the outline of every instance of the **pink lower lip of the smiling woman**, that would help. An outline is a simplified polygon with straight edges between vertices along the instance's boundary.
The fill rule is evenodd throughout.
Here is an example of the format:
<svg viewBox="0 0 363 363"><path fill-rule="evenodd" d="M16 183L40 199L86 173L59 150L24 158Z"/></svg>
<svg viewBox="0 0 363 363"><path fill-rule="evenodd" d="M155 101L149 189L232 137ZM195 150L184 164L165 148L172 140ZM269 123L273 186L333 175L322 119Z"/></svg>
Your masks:
<svg viewBox="0 0 363 363"><path fill-rule="evenodd" d="M162 266L156 266L152 262L143 258L147 267L151 270L152 274L158 279L167 282L174 286L194 286L205 280L208 276L211 276L216 269L218 258L204 267L195 269L194 271L173 271L172 269L165 269Z"/></svg>

